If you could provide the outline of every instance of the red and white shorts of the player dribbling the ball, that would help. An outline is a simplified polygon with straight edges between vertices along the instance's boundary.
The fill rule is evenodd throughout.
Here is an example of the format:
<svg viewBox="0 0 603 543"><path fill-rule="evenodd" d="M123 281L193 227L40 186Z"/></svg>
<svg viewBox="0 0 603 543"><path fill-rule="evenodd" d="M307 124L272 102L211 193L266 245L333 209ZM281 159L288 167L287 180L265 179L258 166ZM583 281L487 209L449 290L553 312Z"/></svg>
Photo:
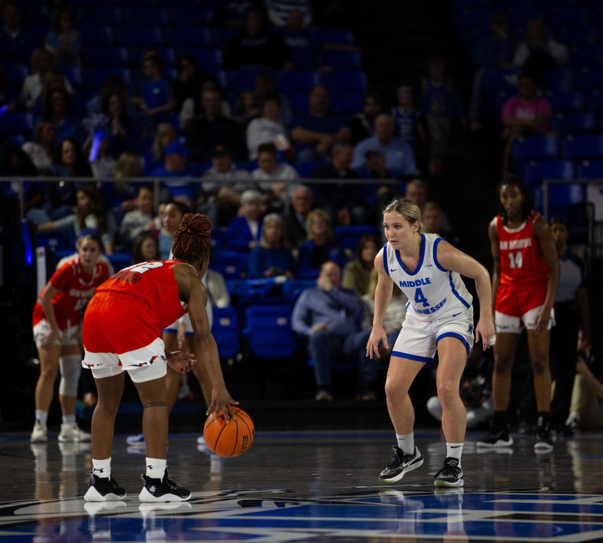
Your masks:
<svg viewBox="0 0 603 543"><path fill-rule="evenodd" d="M165 376L167 359L159 324L134 296L98 293L84 314L84 360L95 379L130 374L136 383Z"/></svg>

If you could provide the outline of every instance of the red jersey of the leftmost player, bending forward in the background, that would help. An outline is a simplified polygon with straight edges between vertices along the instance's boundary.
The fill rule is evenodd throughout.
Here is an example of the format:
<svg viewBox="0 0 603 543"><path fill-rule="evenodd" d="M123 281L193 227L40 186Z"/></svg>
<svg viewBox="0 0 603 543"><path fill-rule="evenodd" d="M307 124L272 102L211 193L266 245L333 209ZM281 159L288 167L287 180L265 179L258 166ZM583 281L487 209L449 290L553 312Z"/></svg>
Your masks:
<svg viewBox="0 0 603 543"><path fill-rule="evenodd" d="M53 287L58 288L60 293L52 298L52 307L54 308L54 317L57 320L58 327L65 330L69 326L80 323L81 310L90 298L94 295L96 287L107 281L109 278L109 268L102 261L96 262L92 273L86 273L81 268L80 257L74 256L63 264L52 274L50 282ZM36 326L41 320L45 319L44 308L40 304L46 287L44 287L38 296L33 311L33 325Z"/></svg>

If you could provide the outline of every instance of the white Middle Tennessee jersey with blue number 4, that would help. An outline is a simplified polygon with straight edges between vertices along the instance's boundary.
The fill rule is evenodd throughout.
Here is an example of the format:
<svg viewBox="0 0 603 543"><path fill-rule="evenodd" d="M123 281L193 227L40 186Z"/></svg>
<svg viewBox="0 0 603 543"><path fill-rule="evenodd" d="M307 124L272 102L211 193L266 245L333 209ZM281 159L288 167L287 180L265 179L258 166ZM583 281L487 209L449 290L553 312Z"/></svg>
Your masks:
<svg viewBox="0 0 603 543"><path fill-rule="evenodd" d="M418 320L454 317L471 307L473 297L456 272L443 268L437 259L436 234L421 234L421 253L417 268L407 270L399 251L390 243L383 246L385 273L408 296L408 314Z"/></svg>

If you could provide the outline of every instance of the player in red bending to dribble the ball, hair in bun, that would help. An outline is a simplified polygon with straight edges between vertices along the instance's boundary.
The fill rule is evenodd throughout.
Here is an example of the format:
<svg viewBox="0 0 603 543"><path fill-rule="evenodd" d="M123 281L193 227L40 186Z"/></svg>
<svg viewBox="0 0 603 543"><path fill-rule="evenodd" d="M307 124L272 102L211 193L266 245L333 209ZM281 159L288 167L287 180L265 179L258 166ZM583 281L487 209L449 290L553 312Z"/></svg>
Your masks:
<svg viewBox="0 0 603 543"><path fill-rule="evenodd" d="M115 415L124 391L124 371L136 385L144 405L142 431L147 449L147 473L140 501L185 501L191 492L168 479L167 366L181 373L201 359L212 383L207 413L223 411L234 417L219 365L218 348L205 309L207 291L201 282L207 271L212 224L201 213L185 214L173 237L173 260L134 264L98 289L84 316L84 367L92 370L98 404L92 417L92 464L88 501L119 500L125 490L111 477L111 445ZM161 330L188 311L194 331L195 356L169 352Z"/></svg>

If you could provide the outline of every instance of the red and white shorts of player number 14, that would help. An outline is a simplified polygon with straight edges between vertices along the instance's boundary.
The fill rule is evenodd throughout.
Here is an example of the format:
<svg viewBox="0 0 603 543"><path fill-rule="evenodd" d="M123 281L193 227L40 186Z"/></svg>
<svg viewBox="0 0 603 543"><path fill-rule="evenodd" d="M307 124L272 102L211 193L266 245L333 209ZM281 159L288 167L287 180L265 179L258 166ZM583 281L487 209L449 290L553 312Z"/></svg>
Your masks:
<svg viewBox="0 0 603 543"><path fill-rule="evenodd" d="M499 285L494 303L494 320L496 332L521 334L524 327L528 330L536 328L536 319L545 305L548 285L546 282L531 283L521 287ZM551 308L551 316L547 330L555 326L555 309Z"/></svg>

